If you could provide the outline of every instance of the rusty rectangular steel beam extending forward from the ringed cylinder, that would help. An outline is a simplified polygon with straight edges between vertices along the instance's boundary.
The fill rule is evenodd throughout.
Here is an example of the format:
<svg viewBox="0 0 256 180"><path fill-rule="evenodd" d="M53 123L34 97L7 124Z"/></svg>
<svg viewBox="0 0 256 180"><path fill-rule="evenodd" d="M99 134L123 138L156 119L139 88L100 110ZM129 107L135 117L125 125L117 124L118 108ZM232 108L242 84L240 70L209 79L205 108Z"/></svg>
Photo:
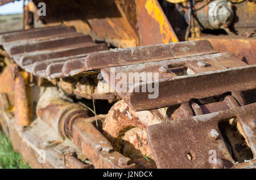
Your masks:
<svg viewBox="0 0 256 180"><path fill-rule="evenodd" d="M100 115L96 117L102 119ZM113 151L112 144L97 130L95 118L81 119L73 125L73 141L95 168L135 168L130 158ZM94 122L94 123L93 123Z"/></svg>

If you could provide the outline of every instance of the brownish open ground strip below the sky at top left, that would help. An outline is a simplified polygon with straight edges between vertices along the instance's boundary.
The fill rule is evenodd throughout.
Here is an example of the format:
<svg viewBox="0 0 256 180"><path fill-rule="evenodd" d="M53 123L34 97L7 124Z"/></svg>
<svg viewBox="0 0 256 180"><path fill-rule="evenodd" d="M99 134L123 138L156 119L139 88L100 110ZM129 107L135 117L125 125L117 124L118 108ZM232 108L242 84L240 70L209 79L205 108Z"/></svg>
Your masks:
<svg viewBox="0 0 256 180"><path fill-rule="evenodd" d="M0 15L0 33L23 29L23 15Z"/></svg>

